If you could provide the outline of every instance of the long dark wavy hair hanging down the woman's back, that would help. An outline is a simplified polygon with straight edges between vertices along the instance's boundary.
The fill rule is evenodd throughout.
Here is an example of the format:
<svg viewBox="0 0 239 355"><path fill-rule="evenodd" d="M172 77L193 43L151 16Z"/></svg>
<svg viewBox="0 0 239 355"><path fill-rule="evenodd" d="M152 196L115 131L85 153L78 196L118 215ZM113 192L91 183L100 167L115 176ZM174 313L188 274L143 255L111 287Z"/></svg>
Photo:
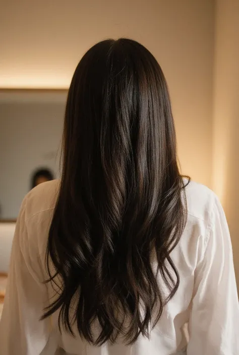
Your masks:
<svg viewBox="0 0 239 355"><path fill-rule="evenodd" d="M59 327L75 335L76 324L94 345L149 336L180 282L170 253L186 222L184 194L156 59L130 39L94 45L68 94L46 254L48 282L60 279L61 291L43 318L59 309Z"/></svg>

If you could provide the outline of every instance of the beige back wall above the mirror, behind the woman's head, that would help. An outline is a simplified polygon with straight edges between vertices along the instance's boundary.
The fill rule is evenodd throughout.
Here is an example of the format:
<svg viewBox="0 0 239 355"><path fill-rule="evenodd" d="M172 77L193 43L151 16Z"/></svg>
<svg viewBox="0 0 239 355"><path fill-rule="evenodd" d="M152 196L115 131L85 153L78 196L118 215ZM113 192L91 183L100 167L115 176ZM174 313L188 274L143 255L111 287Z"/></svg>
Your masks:
<svg viewBox="0 0 239 355"><path fill-rule="evenodd" d="M161 64L184 173L211 184L213 0L16 0L0 14L0 87L67 88L83 53L132 37Z"/></svg>

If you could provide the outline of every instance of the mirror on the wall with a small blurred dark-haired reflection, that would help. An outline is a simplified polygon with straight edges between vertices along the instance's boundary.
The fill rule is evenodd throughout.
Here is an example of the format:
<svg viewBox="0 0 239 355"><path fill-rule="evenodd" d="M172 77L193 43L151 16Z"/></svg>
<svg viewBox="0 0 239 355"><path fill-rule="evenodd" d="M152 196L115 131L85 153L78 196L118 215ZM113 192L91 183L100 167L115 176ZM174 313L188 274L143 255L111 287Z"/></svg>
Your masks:
<svg viewBox="0 0 239 355"><path fill-rule="evenodd" d="M35 172L59 176L66 99L67 90L0 90L0 222L16 220Z"/></svg>

